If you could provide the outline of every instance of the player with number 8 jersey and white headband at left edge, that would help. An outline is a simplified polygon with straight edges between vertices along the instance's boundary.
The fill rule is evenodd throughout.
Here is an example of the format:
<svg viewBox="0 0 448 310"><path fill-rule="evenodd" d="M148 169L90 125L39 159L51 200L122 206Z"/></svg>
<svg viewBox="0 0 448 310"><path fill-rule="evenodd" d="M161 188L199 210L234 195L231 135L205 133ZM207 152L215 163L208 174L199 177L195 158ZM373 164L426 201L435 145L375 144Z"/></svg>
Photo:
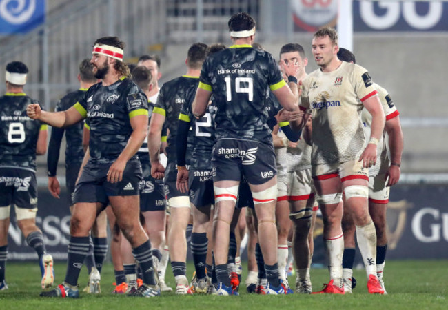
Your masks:
<svg viewBox="0 0 448 310"><path fill-rule="evenodd" d="M39 258L42 288L50 287L54 280L53 258L46 252L42 232L36 226L36 155L47 151L48 132L43 122L26 117L28 104L39 106L23 93L27 74L26 64L7 64L6 94L0 97L0 290L8 289L5 264L12 204L17 226Z"/></svg>

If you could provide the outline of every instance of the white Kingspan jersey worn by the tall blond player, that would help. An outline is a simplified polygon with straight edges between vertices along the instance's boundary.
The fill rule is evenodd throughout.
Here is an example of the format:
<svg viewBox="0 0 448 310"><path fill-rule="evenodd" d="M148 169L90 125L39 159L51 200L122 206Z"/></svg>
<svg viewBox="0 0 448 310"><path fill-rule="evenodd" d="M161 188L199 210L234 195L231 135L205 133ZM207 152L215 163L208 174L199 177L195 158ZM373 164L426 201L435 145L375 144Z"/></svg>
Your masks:
<svg viewBox="0 0 448 310"><path fill-rule="evenodd" d="M332 72L315 70L303 81L301 106L313 122L312 164L358 159L365 142L360 112L378 94L369 72L345 61Z"/></svg>

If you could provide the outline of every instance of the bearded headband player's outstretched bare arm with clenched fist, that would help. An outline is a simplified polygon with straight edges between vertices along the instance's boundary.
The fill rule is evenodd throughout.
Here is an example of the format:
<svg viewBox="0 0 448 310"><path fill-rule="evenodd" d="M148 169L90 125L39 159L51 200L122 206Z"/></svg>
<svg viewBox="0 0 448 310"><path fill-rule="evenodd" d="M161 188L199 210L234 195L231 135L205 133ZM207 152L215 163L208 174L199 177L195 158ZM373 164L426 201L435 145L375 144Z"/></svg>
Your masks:
<svg viewBox="0 0 448 310"><path fill-rule="evenodd" d="M68 110L61 112L47 112L41 110L39 104L28 105L26 107L26 115L28 115L30 119L39 119L50 126L59 128L77 124L77 122L84 118L73 106Z"/></svg>

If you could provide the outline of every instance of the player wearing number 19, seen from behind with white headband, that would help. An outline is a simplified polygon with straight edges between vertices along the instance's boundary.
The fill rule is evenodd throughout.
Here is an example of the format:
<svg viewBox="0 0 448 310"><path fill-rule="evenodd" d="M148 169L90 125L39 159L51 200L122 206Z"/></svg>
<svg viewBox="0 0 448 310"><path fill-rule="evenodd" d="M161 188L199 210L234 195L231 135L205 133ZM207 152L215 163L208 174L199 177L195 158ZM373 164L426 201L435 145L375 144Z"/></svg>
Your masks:
<svg viewBox="0 0 448 310"><path fill-rule="evenodd" d="M192 105L195 117L205 115L212 95L217 106L212 164L216 204L213 244L218 294L234 294L226 263L230 222L242 175L250 184L258 217L258 237L269 281L266 291L287 293L289 291L278 275L276 167L265 98L269 87L284 108L298 109L297 80L292 76L290 88L287 87L274 57L252 48L255 21L249 14L234 14L228 25L234 45L207 58ZM290 64L287 70L295 72L296 66Z"/></svg>

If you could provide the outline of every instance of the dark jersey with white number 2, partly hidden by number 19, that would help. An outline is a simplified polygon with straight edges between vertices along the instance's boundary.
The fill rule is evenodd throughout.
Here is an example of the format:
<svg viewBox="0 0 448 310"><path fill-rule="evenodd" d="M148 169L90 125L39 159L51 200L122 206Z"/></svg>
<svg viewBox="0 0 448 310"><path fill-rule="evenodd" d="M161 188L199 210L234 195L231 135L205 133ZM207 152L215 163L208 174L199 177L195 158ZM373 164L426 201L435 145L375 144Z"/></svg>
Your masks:
<svg viewBox="0 0 448 310"><path fill-rule="evenodd" d="M212 103L207 106L205 115L196 119L192 112L195 95L196 89L190 92L179 114L181 121L190 123L187 138L187 154L190 154L190 158L187 158L187 164L193 169L210 169L212 167L212 148L216 140L214 135L216 105L212 97Z"/></svg>

